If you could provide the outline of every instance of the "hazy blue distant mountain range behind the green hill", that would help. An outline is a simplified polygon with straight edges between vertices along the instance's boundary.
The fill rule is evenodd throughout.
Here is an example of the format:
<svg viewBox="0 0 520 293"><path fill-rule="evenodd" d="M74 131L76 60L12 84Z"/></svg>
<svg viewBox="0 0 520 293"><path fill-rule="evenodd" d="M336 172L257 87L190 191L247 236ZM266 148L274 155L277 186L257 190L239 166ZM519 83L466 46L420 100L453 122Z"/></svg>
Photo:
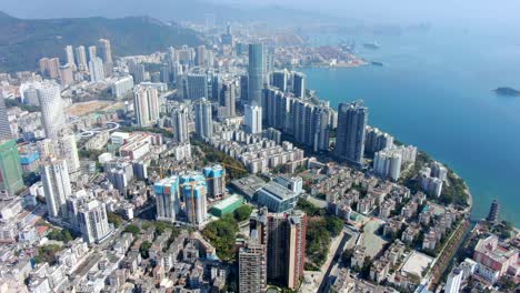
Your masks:
<svg viewBox="0 0 520 293"><path fill-rule="evenodd" d="M331 17L318 11L307 11L288 8L283 1L278 6L251 4L251 1L229 3L218 0L44 0L20 4L8 1L2 9L21 18L62 18L92 17L121 18L136 14L151 16L163 21L190 21L204 23L208 14L214 17L217 23L228 21L263 22L270 27L308 24L309 22L344 23L344 18Z"/></svg>

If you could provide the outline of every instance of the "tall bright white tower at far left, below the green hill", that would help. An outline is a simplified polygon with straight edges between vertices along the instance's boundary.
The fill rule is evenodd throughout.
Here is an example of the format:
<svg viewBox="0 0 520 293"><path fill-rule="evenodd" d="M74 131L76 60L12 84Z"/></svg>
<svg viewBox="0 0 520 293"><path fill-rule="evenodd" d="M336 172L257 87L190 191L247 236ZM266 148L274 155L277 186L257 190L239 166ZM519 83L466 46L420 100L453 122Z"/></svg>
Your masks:
<svg viewBox="0 0 520 293"><path fill-rule="evenodd" d="M57 139L60 130L66 125L63 101L61 99L60 85L43 82L37 88L38 101L41 109L41 122L49 139Z"/></svg>

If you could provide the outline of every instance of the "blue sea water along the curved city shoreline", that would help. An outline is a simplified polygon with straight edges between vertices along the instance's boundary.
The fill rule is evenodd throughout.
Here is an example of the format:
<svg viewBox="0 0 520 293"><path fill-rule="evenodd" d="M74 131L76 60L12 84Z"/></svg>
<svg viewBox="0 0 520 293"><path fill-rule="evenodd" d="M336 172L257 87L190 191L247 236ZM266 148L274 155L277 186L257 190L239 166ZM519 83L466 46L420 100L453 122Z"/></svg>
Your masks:
<svg viewBox="0 0 520 293"><path fill-rule="evenodd" d="M520 89L520 39L446 29L332 38L354 40L358 55L384 65L307 68L308 88L333 107L364 100L369 124L424 150L467 181L474 219L498 199L500 218L519 225L520 98L492 90ZM380 49L362 48L374 40Z"/></svg>

